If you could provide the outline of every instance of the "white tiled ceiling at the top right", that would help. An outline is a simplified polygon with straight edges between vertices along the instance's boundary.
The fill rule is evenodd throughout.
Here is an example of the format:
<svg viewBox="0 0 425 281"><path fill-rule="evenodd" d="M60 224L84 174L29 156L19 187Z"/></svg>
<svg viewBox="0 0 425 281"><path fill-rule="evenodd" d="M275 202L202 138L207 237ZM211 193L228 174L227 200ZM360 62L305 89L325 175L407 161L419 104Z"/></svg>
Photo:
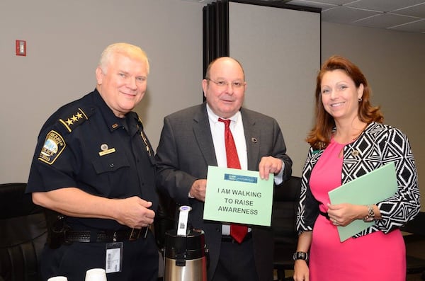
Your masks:
<svg viewBox="0 0 425 281"><path fill-rule="evenodd" d="M210 4L215 0L185 0ZM425 35L423 0L264 0L322 8L322 21Z"/></svg>

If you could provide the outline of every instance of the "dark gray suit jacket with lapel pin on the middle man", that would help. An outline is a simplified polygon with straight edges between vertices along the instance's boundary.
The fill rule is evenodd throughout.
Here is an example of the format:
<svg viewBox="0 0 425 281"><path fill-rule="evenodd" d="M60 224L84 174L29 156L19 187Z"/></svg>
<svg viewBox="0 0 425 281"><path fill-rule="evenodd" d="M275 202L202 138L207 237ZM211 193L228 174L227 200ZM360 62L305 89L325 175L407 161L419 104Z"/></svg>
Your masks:
<svg viewBox="0 0 425 281"><path fill-rule="evenodd" d="M274 156L285 163L283 180L292 173L292 161L286 153L282 132L276 120L241 108L246 138L248 169L258 171L262 156ZM221 245L220 222L203 220L204 203L188 198L197 179L207 177L208 166L217 166L206 104L196 105L164 118L157 148L159 191L179 205L190 205L189 223L205 232L210 264L208 280L217 266ZM268 227L249 226L254 239L254 257L259 280L273 280L273 231Z"/></svg>

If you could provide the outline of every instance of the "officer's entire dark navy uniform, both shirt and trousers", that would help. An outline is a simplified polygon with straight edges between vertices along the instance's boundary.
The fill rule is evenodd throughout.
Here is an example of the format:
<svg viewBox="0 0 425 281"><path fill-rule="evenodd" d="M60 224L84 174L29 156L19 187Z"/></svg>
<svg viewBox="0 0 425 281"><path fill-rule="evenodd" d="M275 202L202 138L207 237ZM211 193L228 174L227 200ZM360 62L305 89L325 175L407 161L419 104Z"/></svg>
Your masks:
<svg viewBox="0 0 425 281"><path fill-rule="evenodd" d="M95 90L62 106L43 125L27 192L77 187L108 198L139 196L151 201L156 212L154 161L137 114L116 117ZM91 231L94 239L57 249L46 246L40 260L43 280L65 275L81 281L89 268L105 268L106 243L96 242L96 231L129 230L113 219L66 217L65 222L74 231ZM108 281L157 280L157 247L150 231L143 236L123 239L121 272L108 273Z"/></svg>

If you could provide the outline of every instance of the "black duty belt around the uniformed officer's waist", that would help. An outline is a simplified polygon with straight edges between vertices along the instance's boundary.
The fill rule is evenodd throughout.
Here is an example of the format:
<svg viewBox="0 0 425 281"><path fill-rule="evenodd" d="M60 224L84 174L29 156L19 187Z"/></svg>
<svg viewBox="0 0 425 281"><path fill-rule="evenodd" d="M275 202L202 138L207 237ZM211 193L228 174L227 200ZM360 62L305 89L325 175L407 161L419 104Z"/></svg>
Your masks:
<svg viewBox="0 0 425 281"><path fill-rule="evenodd" d="M126 229L118 231L74 231L67 230L64 233L64 243L70 242L120 242L135 241L139 238L146 238L148 227L142 229Z"/></svg>

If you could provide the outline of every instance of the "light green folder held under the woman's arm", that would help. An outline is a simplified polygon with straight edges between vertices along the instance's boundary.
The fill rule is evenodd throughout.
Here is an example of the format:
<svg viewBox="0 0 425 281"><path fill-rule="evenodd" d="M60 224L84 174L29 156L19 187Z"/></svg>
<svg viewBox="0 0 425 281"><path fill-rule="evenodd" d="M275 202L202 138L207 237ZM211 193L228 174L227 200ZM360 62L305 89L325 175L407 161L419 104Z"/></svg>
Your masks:
<svg viewBox="0 0 425 281"><path fill-rule="evenodd" d="M329 191L328 194L331 204L370 205L391 197L396 191L395 164L390 162ZM339 240L343 242L373 224L375 221L363 222L362 219L356 219L347 226L337 226Z"/></svg>

